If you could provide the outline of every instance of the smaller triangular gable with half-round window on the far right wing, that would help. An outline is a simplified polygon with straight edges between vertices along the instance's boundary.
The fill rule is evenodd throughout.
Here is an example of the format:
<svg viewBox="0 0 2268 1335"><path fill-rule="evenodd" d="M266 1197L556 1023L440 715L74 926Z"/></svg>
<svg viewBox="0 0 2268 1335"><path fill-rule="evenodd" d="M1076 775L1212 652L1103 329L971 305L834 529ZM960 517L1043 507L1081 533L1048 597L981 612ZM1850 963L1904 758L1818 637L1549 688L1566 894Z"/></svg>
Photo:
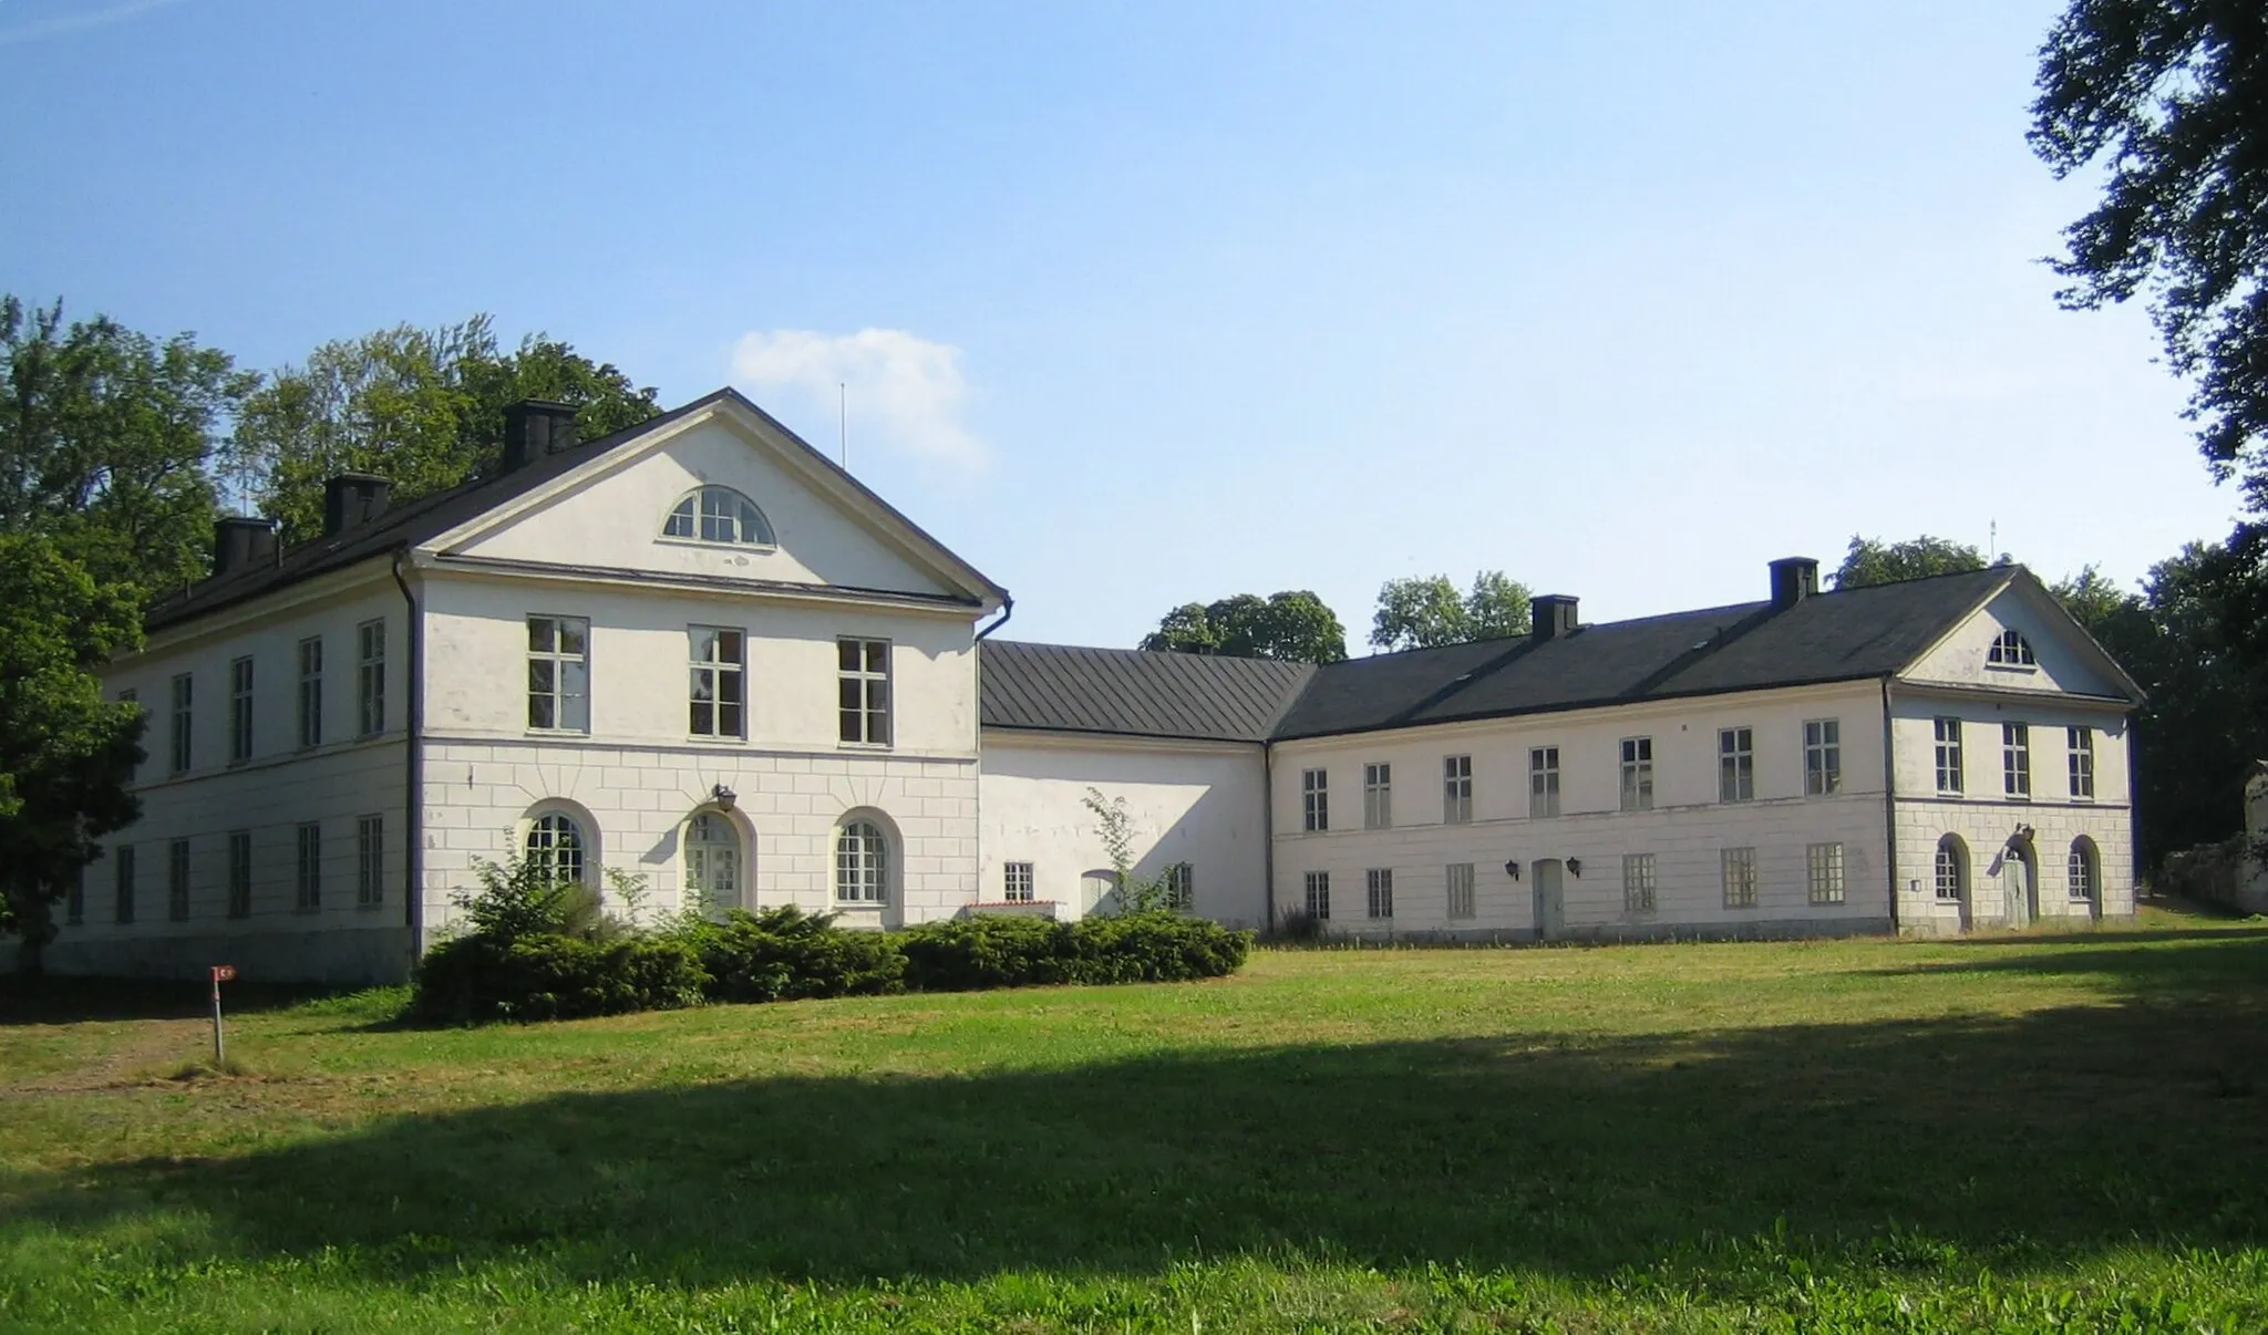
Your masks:
<svg viewBox="0 0 2268 1335"><path fill-rule="evenodd" d="M1994 662L1994 641L2014 630L2032 662ZM2009 578L1955 621L1898 673L1901 680L2000 691L2053 691L2141 703L2141 687L2102 651L2039 576L2012 567Z"/></svg>

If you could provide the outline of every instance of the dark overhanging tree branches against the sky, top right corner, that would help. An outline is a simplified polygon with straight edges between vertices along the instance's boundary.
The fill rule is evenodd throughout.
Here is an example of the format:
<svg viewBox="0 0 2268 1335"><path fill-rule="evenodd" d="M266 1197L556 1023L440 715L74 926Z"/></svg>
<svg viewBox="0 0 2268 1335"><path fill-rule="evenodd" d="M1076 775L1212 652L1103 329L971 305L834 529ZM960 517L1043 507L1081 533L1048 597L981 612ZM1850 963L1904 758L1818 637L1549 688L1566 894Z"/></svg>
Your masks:
<svg viewBox="0 0 2268 1335"><path fill-rule="evenodd" d="M2268 510L2268 7L2071 0L2039 52L2030 143L2057 177L2109 168L2064 229L2059 301L2148 290L2214 476Z"/></svg>

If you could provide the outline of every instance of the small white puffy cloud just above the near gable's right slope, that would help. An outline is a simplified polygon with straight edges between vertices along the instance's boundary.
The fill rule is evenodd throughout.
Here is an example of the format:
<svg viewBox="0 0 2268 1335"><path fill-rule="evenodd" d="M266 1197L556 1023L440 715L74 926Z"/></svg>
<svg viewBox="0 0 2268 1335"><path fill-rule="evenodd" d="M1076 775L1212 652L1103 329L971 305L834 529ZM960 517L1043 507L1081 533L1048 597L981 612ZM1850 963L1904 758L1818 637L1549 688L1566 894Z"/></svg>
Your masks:
<svg viewBox="0 0 2268 1335"><path fill-rule="evenodd" d="M853 458L862 447L882 444L962 467L984 465L984 442L962 426L968 381L962 349L950 342L903 329L746 333L733 349L733 381L760 403L771 392L787 392L819 422L835 417L837 394L848 392ZM812 444L828 449L832 433Z"/></svg>

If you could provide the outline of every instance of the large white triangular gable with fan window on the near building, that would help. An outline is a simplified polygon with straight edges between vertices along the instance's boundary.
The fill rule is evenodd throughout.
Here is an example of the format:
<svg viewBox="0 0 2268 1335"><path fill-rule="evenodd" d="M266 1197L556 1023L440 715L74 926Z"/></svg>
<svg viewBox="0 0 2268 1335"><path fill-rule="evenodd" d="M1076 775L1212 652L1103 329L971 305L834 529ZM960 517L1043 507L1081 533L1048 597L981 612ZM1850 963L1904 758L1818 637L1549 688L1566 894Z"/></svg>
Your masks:
<svg viewBox="0 0 2268 1335"><path fill-rule="evenodd" d="M726 485L764 512L769 549L676 542L669 510ZM1007 592L735 390L631 435L422 551L703 580L878 589L993 607Z"/></svg>

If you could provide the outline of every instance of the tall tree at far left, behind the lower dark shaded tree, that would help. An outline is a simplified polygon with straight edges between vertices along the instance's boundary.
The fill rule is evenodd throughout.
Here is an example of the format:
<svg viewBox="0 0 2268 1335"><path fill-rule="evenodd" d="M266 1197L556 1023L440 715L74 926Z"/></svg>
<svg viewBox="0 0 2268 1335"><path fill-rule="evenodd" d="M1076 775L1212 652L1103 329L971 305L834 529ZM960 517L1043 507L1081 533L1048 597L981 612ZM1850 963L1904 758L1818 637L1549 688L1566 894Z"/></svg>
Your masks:
<svg viewBox="0 0 2268 1335"><path fill-rule="evenodd" d="M163 342L64 304L0 297L0 533L41 533L98 583L163 592L213 539L209 462L256 374L195 335Z"/></svg>

